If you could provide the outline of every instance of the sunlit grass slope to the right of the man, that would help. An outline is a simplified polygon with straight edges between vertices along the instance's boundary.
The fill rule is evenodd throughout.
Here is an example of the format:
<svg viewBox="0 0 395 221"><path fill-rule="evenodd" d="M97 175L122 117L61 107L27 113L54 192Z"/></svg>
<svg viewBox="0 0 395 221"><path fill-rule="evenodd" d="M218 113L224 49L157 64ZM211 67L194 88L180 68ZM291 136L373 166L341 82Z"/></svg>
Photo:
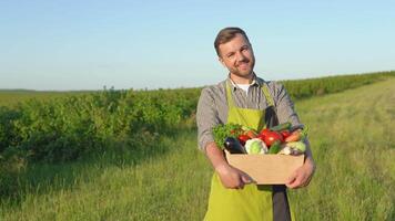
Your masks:
<svg viewBox="0 0 395 221"><path fill-rule="evenodd" d="M395 220L395 81L297 103L317 172L292 192L301 220Z"/></svg>

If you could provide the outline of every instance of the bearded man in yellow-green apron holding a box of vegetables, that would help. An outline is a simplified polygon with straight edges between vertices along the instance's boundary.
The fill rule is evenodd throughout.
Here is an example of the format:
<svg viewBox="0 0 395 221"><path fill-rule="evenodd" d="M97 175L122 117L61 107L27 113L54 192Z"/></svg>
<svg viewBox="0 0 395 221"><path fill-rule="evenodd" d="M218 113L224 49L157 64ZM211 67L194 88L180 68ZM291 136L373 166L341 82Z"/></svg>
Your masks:
<svg viewBox="0 0 395 221"><path fill-rule="evenodd" d="M254 52L243 30L221 30L214 48L220 62L229 70L229 77L204 88L198 104L199 145L215 170L205 220L291 220L285 186L251 183L247 175L226 162L214 143L212 128L226 123L255 129L285 122L301 125L293 103L281 84L255 75ZM315 165L306 143L305 162L290 177L288 188L307 186L314 173Z"/></svg>

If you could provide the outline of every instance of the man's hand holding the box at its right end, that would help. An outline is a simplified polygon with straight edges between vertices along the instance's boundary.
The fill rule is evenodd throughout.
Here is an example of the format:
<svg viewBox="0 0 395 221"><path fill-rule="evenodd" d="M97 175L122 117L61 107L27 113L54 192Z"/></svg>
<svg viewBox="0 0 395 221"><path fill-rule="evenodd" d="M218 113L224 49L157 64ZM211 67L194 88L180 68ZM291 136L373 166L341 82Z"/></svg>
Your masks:
<svg viewBox="0 0 395 221"><path fill-rule="evenodd" d="M306 160L304 165L297 168L288 178L288 181L285 183L286 187L291 189L296 189L301 187L308 186L310 181L313 178L315 170L314 162Z"/></svg>

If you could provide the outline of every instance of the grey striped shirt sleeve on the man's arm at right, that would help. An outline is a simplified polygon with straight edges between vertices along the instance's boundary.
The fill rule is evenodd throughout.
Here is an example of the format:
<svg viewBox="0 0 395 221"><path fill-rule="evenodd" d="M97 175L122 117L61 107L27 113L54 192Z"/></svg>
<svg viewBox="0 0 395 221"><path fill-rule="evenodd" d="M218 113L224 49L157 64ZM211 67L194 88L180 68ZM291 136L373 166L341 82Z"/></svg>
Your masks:
<svg viewBox="0 0 395 221"><path fill-rule="evenodd" d="M293 126L302 125L295 112L294 103L291 101L284 85L280 83L275 83L275 106L280 124L290 122Z"/></svg>

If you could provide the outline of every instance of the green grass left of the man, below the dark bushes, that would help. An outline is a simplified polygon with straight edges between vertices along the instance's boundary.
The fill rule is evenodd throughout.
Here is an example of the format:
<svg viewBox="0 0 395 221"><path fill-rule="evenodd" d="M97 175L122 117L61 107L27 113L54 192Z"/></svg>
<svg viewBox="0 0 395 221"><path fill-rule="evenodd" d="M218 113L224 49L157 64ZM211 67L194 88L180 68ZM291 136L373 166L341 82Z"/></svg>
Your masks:
<svg viewBox="0 0 395 221"><path fill-rule="evenodd" d="M3 201L0 218L195 220L204 213L211 177L195 148L195 130L162 138L160 146L160 156L143 161L109 155L88 162L36 165L24 177L33 185L27 183L20 202Z"/></svg>

